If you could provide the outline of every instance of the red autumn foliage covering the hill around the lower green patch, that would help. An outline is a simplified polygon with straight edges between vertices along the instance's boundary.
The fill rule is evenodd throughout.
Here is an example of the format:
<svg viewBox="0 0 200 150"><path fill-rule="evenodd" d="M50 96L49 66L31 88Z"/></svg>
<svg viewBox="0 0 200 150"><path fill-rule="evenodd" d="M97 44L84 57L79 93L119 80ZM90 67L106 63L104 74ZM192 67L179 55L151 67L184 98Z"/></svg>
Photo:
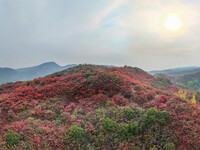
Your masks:
<svg viewBox="0 0 200 150"><path fill-rule="evenodd" d="M83 120L71 115L75 108L92 114L95 109L111 101L116 107L133 103L142 108L156 107L169 111L171 117L167 127L177 137L175 142L178 149L200 149L199 105L174 96L173 92L178 87L156 89L151 86L156 78L139 68L91 71L87 77L86 73L88 71L66 77L46 77L2 85L0 135L4 138L0 138L0 142L5 145L6 131L13 129L21 137L28 136L29 143L38 149L42 148L42 141L47 142L51 149L58 146L62 148L61 137L65 130ZM62 116L65 125L56 126L57 115ZM34 123L31 122L33 116L38 119ZM36 134L36 129L41 133ZM88 130L96 134L92 123L88 124Z"/></svg>

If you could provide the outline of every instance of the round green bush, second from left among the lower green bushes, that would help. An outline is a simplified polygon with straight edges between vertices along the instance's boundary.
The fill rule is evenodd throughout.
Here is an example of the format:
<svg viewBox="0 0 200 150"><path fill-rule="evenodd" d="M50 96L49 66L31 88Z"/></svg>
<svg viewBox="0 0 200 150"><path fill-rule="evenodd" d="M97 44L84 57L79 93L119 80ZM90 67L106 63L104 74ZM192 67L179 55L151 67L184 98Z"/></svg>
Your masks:
<svg viewBox="0 0 200 150"><path fill-rule="evenodd" d="M69 128L69 135L72 139L82 140L84 137L84 130L77 125L74 125Z"/></svg>

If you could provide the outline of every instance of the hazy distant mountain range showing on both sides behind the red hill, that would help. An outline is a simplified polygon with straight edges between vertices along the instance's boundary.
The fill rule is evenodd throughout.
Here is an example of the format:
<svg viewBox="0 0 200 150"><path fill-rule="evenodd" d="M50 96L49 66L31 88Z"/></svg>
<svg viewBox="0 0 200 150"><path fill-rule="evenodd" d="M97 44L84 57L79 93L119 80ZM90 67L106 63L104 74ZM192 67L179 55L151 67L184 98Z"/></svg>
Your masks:
<svg viewBox="0 0 200 150"><path fill-rule="evenodd" d="M47 75L51 76L51 74L56 72L57 73L55 75L59 76L61 73L60 71L75 67L77 65L78 64L69 64L66 66L60 66L55 62L46 62L38 66L20 69L0 68L0 85L8 82L28 81L34 78L45 77ZM83 64L82 68L85 67ZM102 65L102 67L106 68L115 66ZM102 67L100 69L103 69ZM87 70L87 67L85 70ZM79 70L76 71L76 68L72 68L72 71L79 72ZM149 71L148 73L156 77L159 76L169 79L173 84L185 89L198 90L200 88L200 67L198 66L172 68L166 70L153 70Z"/></svg>

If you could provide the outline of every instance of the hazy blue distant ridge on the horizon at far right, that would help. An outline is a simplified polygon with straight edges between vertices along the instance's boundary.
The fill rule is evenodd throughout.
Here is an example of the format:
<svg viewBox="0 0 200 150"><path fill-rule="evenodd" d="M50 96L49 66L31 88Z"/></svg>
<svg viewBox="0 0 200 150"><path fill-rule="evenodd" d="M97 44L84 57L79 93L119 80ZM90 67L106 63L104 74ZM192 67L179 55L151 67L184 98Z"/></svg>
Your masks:
<svg viewBox="0 0 200 150"><path fill-rule="evenodd" d="M149 71L148 73L150 73L151 75L165 74L170 77L177 77L180 75L187 75L196 72L200 72L200 67L191 66L191 67L173 68L166 70L154 70L154 71Z"/></svg>

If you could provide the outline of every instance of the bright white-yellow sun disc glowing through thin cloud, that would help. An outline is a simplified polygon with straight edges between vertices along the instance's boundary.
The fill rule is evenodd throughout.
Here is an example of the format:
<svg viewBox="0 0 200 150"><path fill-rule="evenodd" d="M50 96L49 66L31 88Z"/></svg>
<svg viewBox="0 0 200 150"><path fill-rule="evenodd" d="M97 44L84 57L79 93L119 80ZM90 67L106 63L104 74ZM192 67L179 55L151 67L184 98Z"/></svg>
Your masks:
<svg viewBox="0 0 200 150"><path fill-rule="evenodd" d="M171 31L176 31L181 28L181 19L176 14L170 14L165 20L165 28Z"/></svg>

